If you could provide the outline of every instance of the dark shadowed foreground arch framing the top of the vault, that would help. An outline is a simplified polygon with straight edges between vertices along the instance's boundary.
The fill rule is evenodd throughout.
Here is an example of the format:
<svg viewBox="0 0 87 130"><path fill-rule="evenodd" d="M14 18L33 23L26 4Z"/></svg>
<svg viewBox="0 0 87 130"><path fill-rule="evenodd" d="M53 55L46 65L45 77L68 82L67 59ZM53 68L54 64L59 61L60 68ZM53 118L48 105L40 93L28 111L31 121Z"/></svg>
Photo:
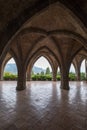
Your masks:
<svg viewBox="0 0 87 130"><path fill-rule="evenodd" d="M0 54L8 40L33 15L60 1L87 27L87 0L0 0Z"/></svg>

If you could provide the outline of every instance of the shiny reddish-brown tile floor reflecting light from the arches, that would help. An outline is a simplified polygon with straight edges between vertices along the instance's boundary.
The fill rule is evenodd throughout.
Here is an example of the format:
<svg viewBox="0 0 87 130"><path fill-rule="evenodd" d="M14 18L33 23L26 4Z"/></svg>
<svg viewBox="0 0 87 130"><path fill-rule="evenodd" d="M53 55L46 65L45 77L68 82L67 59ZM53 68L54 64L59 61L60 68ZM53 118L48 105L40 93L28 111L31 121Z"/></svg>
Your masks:
<svg viewBox="0 0 87 130"><path fill-rule="evenodd" d="M87 83L0 82L0 130L87 130Z"/></svg>

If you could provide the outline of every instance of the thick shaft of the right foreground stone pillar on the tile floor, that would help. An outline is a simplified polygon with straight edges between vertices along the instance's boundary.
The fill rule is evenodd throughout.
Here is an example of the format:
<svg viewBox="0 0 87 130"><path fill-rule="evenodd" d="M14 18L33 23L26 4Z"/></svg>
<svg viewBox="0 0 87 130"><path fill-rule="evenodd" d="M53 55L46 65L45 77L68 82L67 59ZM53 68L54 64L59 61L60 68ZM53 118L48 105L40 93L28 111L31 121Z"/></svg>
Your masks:
<svg viewBox="0 0 87 130"><path fill-rule="evenodd" d="M69 90L69 70L65 66L61 69L61 88Z"/></svg>

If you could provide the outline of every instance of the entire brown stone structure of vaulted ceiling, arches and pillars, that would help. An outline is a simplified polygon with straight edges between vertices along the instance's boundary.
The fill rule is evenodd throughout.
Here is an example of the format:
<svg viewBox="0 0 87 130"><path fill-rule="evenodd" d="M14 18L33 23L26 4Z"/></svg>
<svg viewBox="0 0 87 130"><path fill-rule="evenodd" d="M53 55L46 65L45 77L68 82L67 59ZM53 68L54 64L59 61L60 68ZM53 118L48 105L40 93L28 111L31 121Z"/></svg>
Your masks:
<svg viewBox="0 0 87 130"><path fill-rule="evenodd" d="M84 21L74 11L78 12L75 5L86 9L87 2L83 3L85 6L81 1L72 3L71 0L67 0L67 3L57 0L42 3L39 0L22 0L17 9L19 0L8 0L7 3L1 1L1 68L8 61L5 57L10 53L17 64L19 89L26 87L26 72L30 79L32 66L40 56L45 56L50 62L53 80L56 80L57 67L60 67L62 88L69 89L68 73L72 62L80 80L79 70L84 54L86 56L87 33ZM68 6L70 4L72 9ZM83 12L86 15L85 9L81 10L81 15ZM82 59L76 58L79 55ZM1 69L1 76L2 72Z"/></svg>

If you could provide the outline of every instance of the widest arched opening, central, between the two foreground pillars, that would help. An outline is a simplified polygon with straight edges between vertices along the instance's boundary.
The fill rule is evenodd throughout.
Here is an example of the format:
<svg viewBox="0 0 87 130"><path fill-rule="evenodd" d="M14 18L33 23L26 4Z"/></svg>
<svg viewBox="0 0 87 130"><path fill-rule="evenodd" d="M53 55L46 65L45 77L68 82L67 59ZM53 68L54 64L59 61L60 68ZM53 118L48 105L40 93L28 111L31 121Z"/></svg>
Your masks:
<svg viewBox="0 0 87 130"><path fill-rule="evenodd" d="M39 57L33 64L33 67L31 69L31 80L52 80L52 68L46 57Z"/></svg>

